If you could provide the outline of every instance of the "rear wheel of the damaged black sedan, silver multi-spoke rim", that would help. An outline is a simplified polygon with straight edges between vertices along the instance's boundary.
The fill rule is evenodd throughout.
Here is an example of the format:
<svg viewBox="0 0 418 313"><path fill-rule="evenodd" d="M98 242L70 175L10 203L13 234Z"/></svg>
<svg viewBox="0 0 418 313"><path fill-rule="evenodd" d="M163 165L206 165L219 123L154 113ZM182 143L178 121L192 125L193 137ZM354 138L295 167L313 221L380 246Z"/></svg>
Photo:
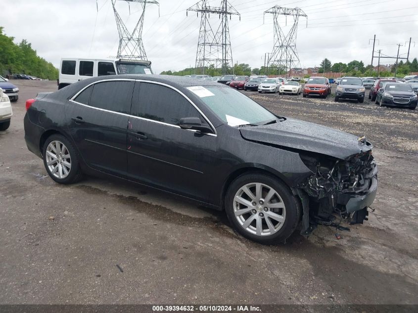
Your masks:
<svg viewBox="0 0 418 313"><path fill-rule="evenodd" d="M46 172L56 182L71 184L82 178L76 150L63 135L50 135L45 141L42 155Z"/></svg>

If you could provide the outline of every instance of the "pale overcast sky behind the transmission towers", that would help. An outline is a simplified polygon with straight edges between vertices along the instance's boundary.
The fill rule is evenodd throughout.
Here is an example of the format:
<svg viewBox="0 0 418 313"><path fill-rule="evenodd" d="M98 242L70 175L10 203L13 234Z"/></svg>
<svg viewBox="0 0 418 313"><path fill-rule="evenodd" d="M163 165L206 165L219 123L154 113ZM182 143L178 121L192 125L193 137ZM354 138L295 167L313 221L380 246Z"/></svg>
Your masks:
<svg viewBox="0 0 418 313"><path fill-rule="evenodd" d="M133 29L139 19L140 5L129 8L117 4L122 19ZM142 39L154 72L182 70L194 66L199 36L200 14L186 16L186 9L196 0L159 0L158 6L146 7ZM299 21L297 50L303 67L319 65L327 57L332 63L353 59L370 64L372 45L388 56L406 57L409 38L410 60L418 56L417 0L229 0L241 14L229 21L234 63L248 63L252 68L264 65L264 54L273 48L273 16L263 12L278 4L300 7L308 15ZM220 5L211 0L210 5ZM15 42L26 39L47 61L59 67L61 57L109 57L118 49L118 32L111 0L1 0L0 26ZM216 25L218 16L211 15ZM287 32L290 18L281 22ZM415 36L415 37L414 37ZM263 58L262 58L263 57ZM394 60L382 60L382 64ZM377 60L373 61L377 65Z"/></svg>

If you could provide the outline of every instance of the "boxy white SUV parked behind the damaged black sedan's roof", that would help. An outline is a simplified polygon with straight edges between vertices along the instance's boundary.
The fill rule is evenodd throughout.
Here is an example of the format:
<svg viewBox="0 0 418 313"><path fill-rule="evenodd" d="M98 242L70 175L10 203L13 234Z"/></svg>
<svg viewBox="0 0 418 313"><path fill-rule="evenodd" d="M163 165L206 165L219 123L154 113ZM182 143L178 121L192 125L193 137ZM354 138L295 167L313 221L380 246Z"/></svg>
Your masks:
<svg viewBox="0 0 418 313"><path fill-rule="evenodd" d="M150 61L130 59L62 58L58 89L86 78L115 74L153 74Z"/></svg>

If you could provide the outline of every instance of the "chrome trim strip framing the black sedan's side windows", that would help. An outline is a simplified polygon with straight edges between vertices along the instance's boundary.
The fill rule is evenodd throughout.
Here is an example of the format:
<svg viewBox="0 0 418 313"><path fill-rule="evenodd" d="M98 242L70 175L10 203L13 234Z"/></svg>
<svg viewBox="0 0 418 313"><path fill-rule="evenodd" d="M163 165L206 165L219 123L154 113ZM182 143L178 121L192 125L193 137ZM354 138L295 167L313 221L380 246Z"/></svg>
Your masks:
<svg viewBox="0 0 418 313"><path fill-rule="evenodd" d="M79 105L82 105L82 106L85 106L85 107L87 107L87 108L92 108L92 109L95 109L95 110L99 110L99 111L103 111L103 112L108 112L108 113L113 113L113 114L118 114L118 115L122 115L122 116L127 116L127 117L131 117L131 118L135 118L135 119L139 119L139 120L143 120L143 121L148 121L148 122L152 122L152 123L157 123L157 124L161 124L161 125L166 125L166 126L170 126L170 127L174 127L174 128L180 128L180 129L182 129L180 126L178 126L178 125L173 125L173 124L169 124L169 123L164 123L164 122L160 122L160 121L155 121L155 120L150 120L150 119L146 119L146 118L144 118L144 117L139 117L139 116L135 116L135 115L131 115L131 114L126 114L126 113L120 113L120 112L115 112L115 111L111 111L111 110L106 110L106 109L102 109L102 108L96 108L96 107L94 107L94 106L91 106L91 105L87 105L87 104L84 104L84 103L80 103L80 102L77 102L77 101L75 101L74 99L81 93L81 92L83 92L85 89L87 89L87 88L89 88L90 86L92 86L92 85L94 85L94 84L97 84L97 83L102 83L102 82L114 82L114 81L130 81L130 82L132 82L132 81L136 81L136 82L144 82L144 83L153 83L153 84L156 84L156 85L162 85L162 86L166 86L166 87L168 87L168 88L171 88L171 89L173 89L173 90L175 90L175 91L177 91L177 92L179 92L181 95L183 95L186 99L187 99L187 101L189 101L190 103L191 103L191 105L193 105L194 106L194 108L203 116L203 118L206 120L206 122L208 122L208 124L209 124L209 126L212 128L212 130L214 131L214 133L215 134L211 134L211 133L201 133L201 134L206 134L206 135L208 135L208 136L214 136L214 137L217 137L218 135L217 135L217 133L216 133L216 130L215 130L215 127L212 125L212 123L209 121L209 119L206 117L206 115L204 115L203 114L203 112L193 103L193 101L191 101L182 91L180 91L179 89L177 89L177 88L175 88L175 87L173 87L173 86L170 86L170 85L167 85L167 84L164 84L164 83L160 83L160 82L153 82L153 81L147 81L147 80L138 80L138 79L131 79L131 78L112 78L112 79L103 79L103 80L99 80L99 81L95 81L95 82L93 82L93 83L91 83L91 84L89 84L89 85L87 85L87 86L85 86L83 89L81 89L81 90L79 90L75 95L73 95L68 101L70 101L70 102L72 102L72 103L75 103L75 104L79 104ZM189 132L193 132L193 133L198 133L199 131L196 131L196 130L187 130L187 129L184 129L185 131L189 131Z"/></svg>

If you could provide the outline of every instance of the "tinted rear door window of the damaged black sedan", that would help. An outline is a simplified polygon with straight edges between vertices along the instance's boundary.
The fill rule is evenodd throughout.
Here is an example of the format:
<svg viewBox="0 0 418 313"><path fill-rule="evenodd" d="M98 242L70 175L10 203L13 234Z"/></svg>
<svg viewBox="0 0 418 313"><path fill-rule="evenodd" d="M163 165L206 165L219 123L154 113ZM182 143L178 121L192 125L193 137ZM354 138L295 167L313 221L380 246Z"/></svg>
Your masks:
<svg viewBox="0 0 418 313"><path fill-rule="evenodd" d="M134 81L108 81L94 84L89 105L99 109L131 114L134 84Z"/></svg>

